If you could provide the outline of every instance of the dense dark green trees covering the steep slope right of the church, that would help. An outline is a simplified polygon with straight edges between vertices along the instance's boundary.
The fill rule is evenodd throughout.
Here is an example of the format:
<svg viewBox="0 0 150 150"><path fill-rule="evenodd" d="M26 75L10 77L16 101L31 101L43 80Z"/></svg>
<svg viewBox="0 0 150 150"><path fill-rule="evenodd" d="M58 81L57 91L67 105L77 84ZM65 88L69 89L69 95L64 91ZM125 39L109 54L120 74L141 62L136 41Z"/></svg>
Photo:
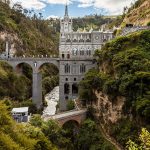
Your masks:
<svg viewBox="0 0 150 150"><path fill-rule="evenodd" d="M90 70L80 83L80 98L88 102L96 100L95 90L107 94L112 103L117 96L126 98L124 119L110 129L110 134L124 146L128 139L137 139L142 126L149 130L149 49L150 31L116 38L96 52L100 70Z"/></svg>

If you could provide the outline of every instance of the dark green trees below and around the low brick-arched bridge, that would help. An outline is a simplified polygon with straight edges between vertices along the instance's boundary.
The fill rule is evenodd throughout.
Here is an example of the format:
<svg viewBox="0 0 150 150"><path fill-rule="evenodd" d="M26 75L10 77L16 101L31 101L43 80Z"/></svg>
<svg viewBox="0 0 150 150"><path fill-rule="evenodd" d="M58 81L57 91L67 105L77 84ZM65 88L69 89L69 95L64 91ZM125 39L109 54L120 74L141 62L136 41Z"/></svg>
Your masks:
<svg viewBox="0 0 150 150"><path fill-rule="evenodd" d="M40 116L31 118L30 124L39 127L46 137L58 148L64 150L115 150L101 135L98 126L91 119L85 120L80 126L69 121L61 128L53 120L43 122Z"/></svg>

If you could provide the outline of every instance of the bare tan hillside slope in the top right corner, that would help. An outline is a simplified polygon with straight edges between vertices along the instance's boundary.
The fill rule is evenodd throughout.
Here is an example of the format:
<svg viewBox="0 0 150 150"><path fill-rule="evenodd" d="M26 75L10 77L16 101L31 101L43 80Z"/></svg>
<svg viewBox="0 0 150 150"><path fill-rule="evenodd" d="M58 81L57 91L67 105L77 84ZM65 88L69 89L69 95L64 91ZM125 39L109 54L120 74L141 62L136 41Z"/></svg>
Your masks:
<svg viewBox="0 0 150 150"><path fill-rule="evenodd" d="M124 18L123 23L147 25L150 22L150 1L145 0L140 6L132 9Z"/></svg>

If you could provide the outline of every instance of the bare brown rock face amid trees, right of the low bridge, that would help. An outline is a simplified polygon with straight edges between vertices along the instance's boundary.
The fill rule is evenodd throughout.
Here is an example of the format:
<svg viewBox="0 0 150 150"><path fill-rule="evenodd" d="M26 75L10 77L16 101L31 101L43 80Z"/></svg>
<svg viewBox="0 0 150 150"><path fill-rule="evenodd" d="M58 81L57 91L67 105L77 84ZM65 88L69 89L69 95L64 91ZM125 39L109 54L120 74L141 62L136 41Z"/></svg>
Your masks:
<svg viewBox="0 0 150 150"><path fill-rule="evenodd" d="M109 97L102 92L95 92L97 104L95 105L104 124L116 123L122 117L122 108L125 102L125 97L116 97L115 102L112 102Z"/></svg>

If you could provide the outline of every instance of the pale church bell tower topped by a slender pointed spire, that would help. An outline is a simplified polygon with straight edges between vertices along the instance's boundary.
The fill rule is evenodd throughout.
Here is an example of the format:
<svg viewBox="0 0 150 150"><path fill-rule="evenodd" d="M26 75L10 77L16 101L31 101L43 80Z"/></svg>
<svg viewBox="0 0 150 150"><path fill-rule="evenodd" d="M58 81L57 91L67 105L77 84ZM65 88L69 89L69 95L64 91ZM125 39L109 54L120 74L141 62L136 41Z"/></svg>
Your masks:
<svg viewBox="0 0 150 150"><path fill-rule="evenodd" d="M67 4L65 6L64 18L60 22L60 32L61 34L72 32L72 19L69 18Z"/></svg>

